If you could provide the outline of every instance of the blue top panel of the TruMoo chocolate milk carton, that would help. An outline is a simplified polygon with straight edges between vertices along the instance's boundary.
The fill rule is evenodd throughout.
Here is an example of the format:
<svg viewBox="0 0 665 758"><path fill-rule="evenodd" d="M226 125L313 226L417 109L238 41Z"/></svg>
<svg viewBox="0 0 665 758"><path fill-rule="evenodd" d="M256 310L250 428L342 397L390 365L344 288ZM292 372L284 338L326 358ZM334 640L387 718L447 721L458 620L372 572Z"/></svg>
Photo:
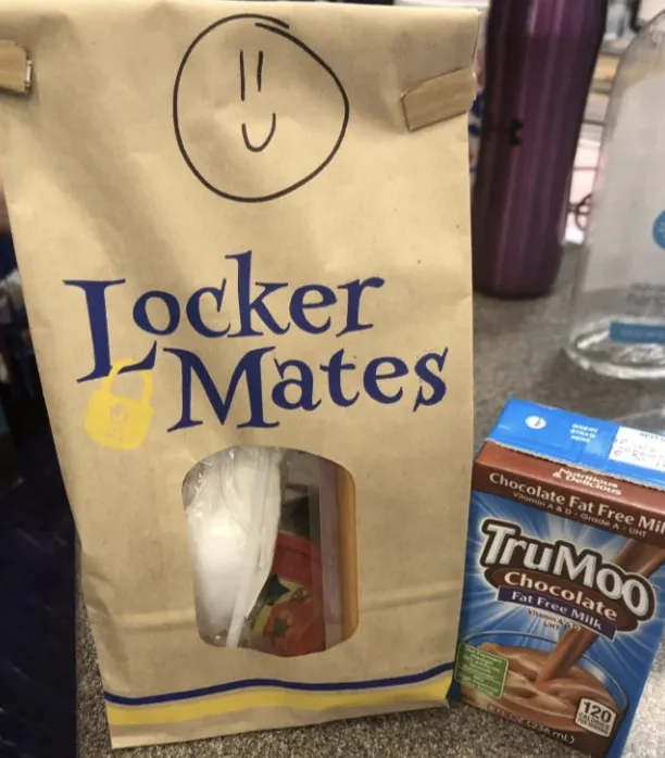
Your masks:
<svg viewBox="0 0 665 758"><path fill-rule="evenodd" d="M488 440L527 455L665 490L665 438L510 400Z"/></svg>

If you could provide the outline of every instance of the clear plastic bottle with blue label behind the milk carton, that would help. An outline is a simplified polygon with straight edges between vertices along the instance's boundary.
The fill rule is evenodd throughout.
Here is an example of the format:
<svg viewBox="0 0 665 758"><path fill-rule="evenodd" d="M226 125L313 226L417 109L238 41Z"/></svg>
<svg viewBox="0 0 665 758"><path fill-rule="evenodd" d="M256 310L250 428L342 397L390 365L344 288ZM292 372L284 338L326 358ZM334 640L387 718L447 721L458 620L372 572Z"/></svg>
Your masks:
<svg viewBox="0 0 665 758"><path fill-rule="evenodd" d="M665 377L665 13L617 72L572 313L579 366Z"/></svg>

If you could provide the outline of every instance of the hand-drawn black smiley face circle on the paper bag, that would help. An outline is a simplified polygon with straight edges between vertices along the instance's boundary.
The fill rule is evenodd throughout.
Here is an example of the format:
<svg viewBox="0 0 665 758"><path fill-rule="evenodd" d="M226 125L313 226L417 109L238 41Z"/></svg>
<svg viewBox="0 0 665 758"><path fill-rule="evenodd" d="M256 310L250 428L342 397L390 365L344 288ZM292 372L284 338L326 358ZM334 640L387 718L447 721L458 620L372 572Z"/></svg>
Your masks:
<svg viewBox="0 0 665 758"><path fill-rule="evenodd" d="M306 185L332 161L349 99L287 24L243 13L217 21L189 46L173 119L199 181L227 200L259 203Z"/></svg>

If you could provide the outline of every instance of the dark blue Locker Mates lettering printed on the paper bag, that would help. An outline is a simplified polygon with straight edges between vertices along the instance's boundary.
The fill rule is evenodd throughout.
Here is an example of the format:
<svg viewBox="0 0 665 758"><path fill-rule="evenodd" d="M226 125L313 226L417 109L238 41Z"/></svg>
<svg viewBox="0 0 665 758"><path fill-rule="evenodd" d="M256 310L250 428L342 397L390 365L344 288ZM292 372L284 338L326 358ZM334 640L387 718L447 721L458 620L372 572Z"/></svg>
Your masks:
<svg viewBox="0 0 665 758"><path fill-rule="evenodd" d="M235 282L224 277L218 286L201 287L184 302L172 292L148 290L134 303L131 323L149 336L152 343L140 361L124 366L120 372L151 370L158 354L177 361L181 376L180 414L167 431L203 422L200 409L197 415L193 408L196 386L203 391L222 425L243 387L249 400L249 417L237 424L238 428L279 426L266 407L268 396L275 408L289 412L313 412L326 400L341 408L351 407L359 401L361 388L376 403L410 402L414 412L436 405L446 396L442 372L448 357L447 346L411 362L392 355L378 356L364 367L359 367L348 355L342 339L376 328L375 324L363 320L363 305L384 291L385 279L355 279L335 288L313 283L290 291L288 282L252 278L251 251L225 257L235 266ZM106 377L114 361L109 313L115 309L114 295L127 286L127 281L68 279L63 283L83 293L90 330L92 369L78 381ZM288 306L284 305L285 294L288 294ZM183 329L193 331L193 334L190 331L187 349L174 346L174 336ZM300 330L308 339L327 333L329 340L331 333L340 340L340 348L316 365L297 358L283 359L277 355L277 338L291 330ZM165 338L168 338L167 343L162 344ZM200 355L191 350L197 338L243 339L248 342L259 338L262 345L244 352L230 370L227 369L228 359L224 358L226 376L213 378ZM275 344L269 344L272 342ZM415 396L411 399L405 396L405 380L410 375L415 375L418 380Z"/></svg>

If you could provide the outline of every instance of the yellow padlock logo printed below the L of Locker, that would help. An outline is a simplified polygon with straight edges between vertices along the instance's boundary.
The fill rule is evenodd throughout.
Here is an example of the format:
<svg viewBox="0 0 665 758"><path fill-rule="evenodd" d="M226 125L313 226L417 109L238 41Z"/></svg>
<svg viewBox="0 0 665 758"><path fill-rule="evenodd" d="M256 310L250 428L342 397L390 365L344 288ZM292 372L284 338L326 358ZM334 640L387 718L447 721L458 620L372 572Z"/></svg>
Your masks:
<svg viewBox="0 0 665 758"><path fill-rule="evenodd" d="M104 447L134 450L140 447L150 430L154 413L152 397L152 372L136 371L142 381L139 400L116 395L112 386L125 366L134 361L120 361L111 369L101 386L95 390L86 410L85 430L88 437Z"/></svg>

